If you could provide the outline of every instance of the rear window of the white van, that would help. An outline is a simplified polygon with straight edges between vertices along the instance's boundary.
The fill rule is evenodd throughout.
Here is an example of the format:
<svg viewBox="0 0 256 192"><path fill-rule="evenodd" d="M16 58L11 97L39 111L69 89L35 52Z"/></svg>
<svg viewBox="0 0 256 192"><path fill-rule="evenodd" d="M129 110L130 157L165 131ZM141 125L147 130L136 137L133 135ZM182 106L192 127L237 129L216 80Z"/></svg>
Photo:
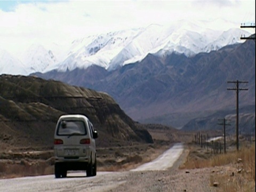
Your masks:
<svg viewBox="0 0 256 192"><path fill-rule="evenodd" d="M57 135L86 135L85 124L83 121L69 120L61 121L58 125Z"/></svg>

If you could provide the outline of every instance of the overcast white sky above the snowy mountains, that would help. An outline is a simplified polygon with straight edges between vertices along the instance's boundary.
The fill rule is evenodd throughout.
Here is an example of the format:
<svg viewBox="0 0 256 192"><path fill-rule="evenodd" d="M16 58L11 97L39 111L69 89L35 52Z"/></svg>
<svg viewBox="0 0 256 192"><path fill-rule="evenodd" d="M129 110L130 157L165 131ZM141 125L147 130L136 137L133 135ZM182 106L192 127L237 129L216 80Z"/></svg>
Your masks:
<svg viewBox="0 0 256 192"><path fill-rule="evenodd" d="M0 49L51 49L53 42L181 19L225 19L239 28L255 23L255 1L0 1Z"/></svg>

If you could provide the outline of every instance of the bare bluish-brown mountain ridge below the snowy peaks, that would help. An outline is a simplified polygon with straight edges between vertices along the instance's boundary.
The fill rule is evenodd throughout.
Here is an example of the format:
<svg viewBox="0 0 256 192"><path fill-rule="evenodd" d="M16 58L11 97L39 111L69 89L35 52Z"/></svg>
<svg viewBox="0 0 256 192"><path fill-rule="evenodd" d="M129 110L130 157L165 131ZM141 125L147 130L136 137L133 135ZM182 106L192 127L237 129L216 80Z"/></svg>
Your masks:
<svg viewBox="0 0 256 192"><path fill-rule="evenodd" d="M249 91L239 95L241 105L255 105L254 63L255 46L246 41L189 58L175 53L162 57L148 54L141 62L114 71L91 66L34 75L107 92L135 121L145 122L168 114L199 115L199 111L230 109L234 107L235 94L227 91L227 82L236 79L249 81ZM171 121L177 118L170 119L169 125L173 126ZM177 126L185 125L186 121L180 119Z"/></svg>

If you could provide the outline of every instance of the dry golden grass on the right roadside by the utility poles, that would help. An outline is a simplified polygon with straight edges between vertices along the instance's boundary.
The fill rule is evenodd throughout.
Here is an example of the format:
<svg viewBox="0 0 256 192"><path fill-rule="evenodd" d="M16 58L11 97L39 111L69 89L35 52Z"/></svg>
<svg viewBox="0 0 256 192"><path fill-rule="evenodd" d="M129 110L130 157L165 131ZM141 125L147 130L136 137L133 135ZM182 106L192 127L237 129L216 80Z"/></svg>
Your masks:
<svg viewBox="0 0 256 192"><path fill-rule="evenodd" d="M212 155L198 148L190 150L181 169L213 167L210 183L217 182L217 191L255 191L255 143L242 146L239 151Z"/></svg>

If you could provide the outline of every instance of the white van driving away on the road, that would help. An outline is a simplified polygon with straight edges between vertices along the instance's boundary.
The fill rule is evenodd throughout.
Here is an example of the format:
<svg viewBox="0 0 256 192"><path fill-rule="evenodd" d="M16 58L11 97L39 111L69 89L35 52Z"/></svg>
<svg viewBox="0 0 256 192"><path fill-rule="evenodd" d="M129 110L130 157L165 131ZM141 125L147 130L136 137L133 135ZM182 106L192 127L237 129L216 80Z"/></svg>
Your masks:
<svg viewBox="0 0 256 192"><path fill-rule="evenodd" d="M97 130L84 115L60 116L54 134L55 178L67 177L68 170L97 174L95 140Z"/></svg>

